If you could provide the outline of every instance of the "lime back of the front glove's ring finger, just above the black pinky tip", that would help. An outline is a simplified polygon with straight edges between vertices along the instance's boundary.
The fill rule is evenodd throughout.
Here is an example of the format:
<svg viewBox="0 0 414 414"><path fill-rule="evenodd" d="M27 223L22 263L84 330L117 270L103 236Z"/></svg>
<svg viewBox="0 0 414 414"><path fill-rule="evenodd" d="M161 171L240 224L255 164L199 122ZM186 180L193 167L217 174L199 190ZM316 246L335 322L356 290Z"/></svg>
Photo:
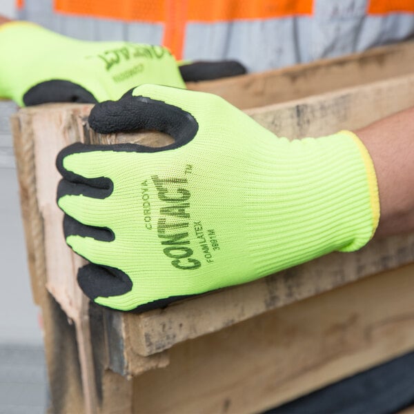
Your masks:
<svg viewBox="0 0 414 414"><path fill-rule="evenodd" d="M92 237L69 235L66 244L79 256L95 264L109 266L108 259L113 257L113 243L95 240Z"/></svg>

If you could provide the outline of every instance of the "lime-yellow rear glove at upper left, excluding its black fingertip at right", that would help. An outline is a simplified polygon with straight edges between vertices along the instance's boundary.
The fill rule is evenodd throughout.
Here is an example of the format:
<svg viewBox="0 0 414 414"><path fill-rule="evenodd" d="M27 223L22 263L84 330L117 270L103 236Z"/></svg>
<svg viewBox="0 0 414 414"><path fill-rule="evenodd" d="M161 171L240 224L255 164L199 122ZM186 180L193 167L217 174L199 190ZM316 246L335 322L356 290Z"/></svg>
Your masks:
<svg viewBox="0 0 414 414"><path fill-rule="evenodd" d="M140 83L185 88L166 48L126 41L81 41L34 23L0 26L0 97L19 106L119 99Z"/></svg>

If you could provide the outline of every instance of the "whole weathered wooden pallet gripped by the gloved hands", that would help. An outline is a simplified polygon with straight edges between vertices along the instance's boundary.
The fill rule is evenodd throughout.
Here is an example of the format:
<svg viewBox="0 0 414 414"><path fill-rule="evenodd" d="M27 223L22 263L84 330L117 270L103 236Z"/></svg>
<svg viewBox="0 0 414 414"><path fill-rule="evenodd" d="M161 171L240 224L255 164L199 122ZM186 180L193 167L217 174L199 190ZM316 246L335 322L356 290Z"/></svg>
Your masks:
<svg viewBox="0 0 414 414"><path fill-rule="evenodd" d="M406 43L191 87L240 107L279 101L247 110L279 136L326 135L413 106L413 55ZM12 118L55 411L251 413L414 349L414 235L142 315L90 305L75 282L83 260L66 246L55 204L57 152L75 141L163 146L168 138L97 135L89 111L48 105Z"/></svg>

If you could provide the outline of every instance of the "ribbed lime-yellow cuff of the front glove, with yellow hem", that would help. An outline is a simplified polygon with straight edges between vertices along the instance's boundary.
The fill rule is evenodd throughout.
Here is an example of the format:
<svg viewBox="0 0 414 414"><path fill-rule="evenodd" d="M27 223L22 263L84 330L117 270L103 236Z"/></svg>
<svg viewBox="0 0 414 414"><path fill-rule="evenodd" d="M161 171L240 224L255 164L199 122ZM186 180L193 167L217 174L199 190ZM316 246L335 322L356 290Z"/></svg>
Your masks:
<svg viewBox="0 0 414 414"><path fill-rule="evenodd" d="M259 274L357 250L373 237L380 216L377 181L356 135L280 139L274 151L258 148L255 199L261 201L250 206L247 222L254 223L248 248Z"/></svg>

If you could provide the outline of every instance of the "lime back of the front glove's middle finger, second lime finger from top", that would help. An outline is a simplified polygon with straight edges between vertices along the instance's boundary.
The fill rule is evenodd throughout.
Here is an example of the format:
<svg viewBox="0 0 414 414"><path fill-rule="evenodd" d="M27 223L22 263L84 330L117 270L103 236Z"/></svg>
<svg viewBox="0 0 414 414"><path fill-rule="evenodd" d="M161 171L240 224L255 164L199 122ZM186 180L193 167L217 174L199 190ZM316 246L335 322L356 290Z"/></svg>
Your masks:
<svg viewBox="0 0 414 414"><path fill-rule="evenodd" d="M110 214L105 200L83 195L63 195L57 200L57 205L64 213L87 226L101 227Z"/></svg>

